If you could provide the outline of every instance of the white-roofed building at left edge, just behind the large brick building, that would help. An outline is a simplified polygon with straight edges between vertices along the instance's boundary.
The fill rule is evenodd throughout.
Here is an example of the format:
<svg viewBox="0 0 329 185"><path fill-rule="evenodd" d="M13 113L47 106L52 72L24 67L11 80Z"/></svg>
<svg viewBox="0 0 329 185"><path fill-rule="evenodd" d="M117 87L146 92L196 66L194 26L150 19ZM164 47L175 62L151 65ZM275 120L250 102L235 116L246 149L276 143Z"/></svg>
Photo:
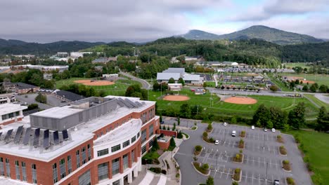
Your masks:
<svg viewBox="0 0 329 185"><path fill-rule="evenodd" d="M20 104L0 104L0 125L8 125L21 121L24 117L22 110L27 109L26 106Z"/></svg>

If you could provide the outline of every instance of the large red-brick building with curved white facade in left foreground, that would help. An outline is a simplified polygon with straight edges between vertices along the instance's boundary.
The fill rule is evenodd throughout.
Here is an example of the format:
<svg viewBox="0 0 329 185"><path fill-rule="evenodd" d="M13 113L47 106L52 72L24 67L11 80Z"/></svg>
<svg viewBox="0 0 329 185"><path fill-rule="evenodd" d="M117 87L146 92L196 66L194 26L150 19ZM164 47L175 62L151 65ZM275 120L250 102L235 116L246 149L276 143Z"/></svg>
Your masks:
<svg viewBox="0 0 329 185"><path fill-rule="evenodd" d="M134 97L39 111L0 130L0 184L131 183L159 130L155 102Z"/></svg>

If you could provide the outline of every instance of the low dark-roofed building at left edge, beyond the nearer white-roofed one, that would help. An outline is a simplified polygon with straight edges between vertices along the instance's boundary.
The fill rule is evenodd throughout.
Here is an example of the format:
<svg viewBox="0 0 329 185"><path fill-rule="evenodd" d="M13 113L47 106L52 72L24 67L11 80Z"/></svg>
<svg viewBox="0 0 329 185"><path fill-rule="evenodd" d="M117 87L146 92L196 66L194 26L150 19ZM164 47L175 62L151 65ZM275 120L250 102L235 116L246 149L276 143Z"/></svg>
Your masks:
<svg viewBox="0 0 329 185"><path fill-rule="evenodd" d="M18 94L35 93L40 89L35 85L30 85L22 82L17 82L17 83L4 82L2 83L2 85L7 92L15 92Z"/></svg>

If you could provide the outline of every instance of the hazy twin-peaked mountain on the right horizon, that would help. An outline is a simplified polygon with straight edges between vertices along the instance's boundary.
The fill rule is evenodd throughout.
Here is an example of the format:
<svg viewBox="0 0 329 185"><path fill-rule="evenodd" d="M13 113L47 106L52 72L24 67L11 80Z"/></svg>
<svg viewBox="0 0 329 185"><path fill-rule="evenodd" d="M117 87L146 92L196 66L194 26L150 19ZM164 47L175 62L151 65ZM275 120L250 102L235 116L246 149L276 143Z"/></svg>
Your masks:
<svg viewBox="0 0 329 185"><path fill-rule="evenodd" d="M277 43L280 45L296 44L296 43L319 43L323 42L321 39L316 39L313 36L305 34L296 34L292 32L285 32L280 29L275 29L271 27L265 27L262 25L248 27L247 29L240 30L238 32L233 32L231 34L211 34L208 32L203 32L200 30L191 30L187 34L181 35L181 37L186 39L195 40L243 40L243 39L264 39L272 43Z"/></svg>

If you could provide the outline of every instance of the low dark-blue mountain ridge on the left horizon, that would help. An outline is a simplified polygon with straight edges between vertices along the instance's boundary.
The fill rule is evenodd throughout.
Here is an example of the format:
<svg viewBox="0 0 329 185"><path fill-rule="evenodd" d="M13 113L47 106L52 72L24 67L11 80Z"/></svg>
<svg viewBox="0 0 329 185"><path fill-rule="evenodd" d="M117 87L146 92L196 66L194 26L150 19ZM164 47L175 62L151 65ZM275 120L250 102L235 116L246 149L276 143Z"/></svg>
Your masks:
<svg viewBox="0 0 329 185"><path fill-rule="evenodd" d="M83 41L57 41L53 43L27 43L18 40L0 39L0 54L34 54L52 55L60 51L77 51L105 44L103 42L89 43Z"/></svg>

